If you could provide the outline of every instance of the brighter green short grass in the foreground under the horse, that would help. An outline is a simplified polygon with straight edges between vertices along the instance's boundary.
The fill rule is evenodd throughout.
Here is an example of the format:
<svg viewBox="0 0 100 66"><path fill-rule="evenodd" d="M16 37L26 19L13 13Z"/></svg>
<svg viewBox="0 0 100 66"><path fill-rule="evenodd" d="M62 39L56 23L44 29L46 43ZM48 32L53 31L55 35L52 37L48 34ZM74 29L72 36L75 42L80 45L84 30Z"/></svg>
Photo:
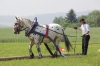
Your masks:
<svg viewBox="0 0 100 66"><path fill-rule="evenodd" d="M60 46L64 46L61 43ZM88 55L72 55L66 58L42 58L42 59L21 59L0 61L0 66L99 66L100 65L100 49L98 44L89 45ZM41 45L42 54L48 54L48 51ZM33 52L37 55L36 46L33 46ZM73 49L70 51L73 52ZM77 45L76 52L81 52L81 45ZM28 54L28 43L0 43L0 57L8 56L24 56Z"/></svg>

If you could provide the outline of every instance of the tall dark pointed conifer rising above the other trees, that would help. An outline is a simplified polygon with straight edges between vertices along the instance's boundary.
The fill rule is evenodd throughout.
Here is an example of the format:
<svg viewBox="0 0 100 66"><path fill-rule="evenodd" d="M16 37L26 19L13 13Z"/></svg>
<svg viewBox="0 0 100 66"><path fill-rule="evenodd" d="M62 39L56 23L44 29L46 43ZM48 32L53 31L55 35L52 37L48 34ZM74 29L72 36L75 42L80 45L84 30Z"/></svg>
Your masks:
<svg viewBox="0 0 100 66"><path fill-rule="evenodd" d="M76 13L74 12L73 9L71 9L71 10L69 11L69 13L66 14L65 19L66 19L68 22L70 22L70 23L77 22Z"/></svg>

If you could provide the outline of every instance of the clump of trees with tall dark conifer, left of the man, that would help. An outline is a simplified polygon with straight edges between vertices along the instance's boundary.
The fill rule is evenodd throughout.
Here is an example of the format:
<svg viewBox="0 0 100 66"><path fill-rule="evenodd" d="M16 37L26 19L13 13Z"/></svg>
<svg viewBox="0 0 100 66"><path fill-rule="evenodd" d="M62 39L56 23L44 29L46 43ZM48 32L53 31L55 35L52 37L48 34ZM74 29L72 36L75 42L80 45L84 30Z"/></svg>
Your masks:
<svg viewBox="0 0 100 66"><path fill-rule="evenodd" d="M53 20L53 23L60 24L63 28L66 27L73 27L73 26L79 26L79 23L76 22L76 14L73 9L69 11L69 13L66 14L66 17L55 17Z"/></svg>

